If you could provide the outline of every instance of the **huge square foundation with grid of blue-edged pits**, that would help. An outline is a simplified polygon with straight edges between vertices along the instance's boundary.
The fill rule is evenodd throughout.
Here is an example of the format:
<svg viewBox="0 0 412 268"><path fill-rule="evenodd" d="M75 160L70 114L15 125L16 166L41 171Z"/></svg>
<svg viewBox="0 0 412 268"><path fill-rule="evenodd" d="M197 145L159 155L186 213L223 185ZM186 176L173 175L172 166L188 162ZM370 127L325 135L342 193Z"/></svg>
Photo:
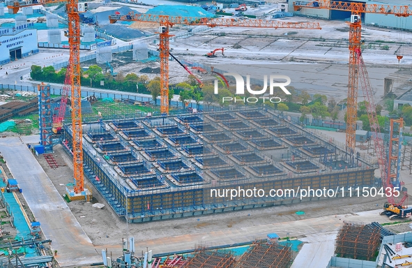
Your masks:
<svg viewBox="0 0 412 268"><path fill-rule="evenodd" d="M288 198L211 198L211 189L216 186L233 188L235 183L245 189L256 187L264 191L303 186L336 188L375 184L373 174L376 166L369 164L368 158L361 159L363 166L346 170L346 166L351 165L345 164L350 161L345 162L344 147L282 121L270 111L259 107L236 107L217 115L205 112L146 117L142 114L131 119L119 117L89 122L89 131L84 139L84 173L116 214L126 216L125 211L128 211L130 222L293 202ZM261 117L261 114L266 117ZM252 121L282 121L280 127L285 135L293 131L296 137L305 137L314 144L288 146L282 138L266 131L267 128L246 121L247 117L259 118ZM202 118L203 124L199 120ZM188 128L188 124L192 126ZM247 129L235 132L224 126L247 126ZM128 140L124 131L132 135L144 131L152 137ZM67 150L71 146L70 135L70 125L65 124ZM247 135L252 135L252 140L246 140ZM310 156L308 151L300 148L314 149L320 156ZM276 155L282 159L272 159ZM288 161L290 165L287 165ZM329 162L336 169L329 169L326 165ZM147 173L150 170L152 174ZM222 207L226 209L216 209Z"/></svg>

